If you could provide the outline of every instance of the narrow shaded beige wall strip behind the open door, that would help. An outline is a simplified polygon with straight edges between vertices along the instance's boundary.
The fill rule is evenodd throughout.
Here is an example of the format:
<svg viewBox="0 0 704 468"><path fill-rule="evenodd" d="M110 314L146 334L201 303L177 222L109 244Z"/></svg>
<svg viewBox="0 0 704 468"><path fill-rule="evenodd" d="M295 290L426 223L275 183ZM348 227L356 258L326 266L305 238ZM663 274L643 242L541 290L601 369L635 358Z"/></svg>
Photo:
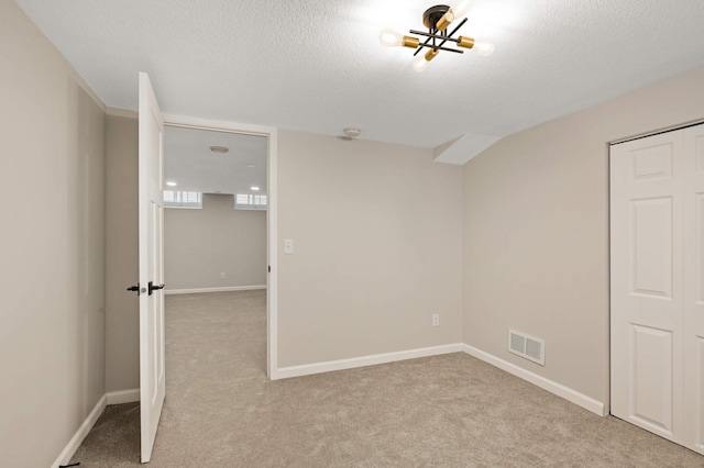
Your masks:
<svg viewBox="0 0 704 468"><path fill-rule="evenodd" d="M106 389L140 387L138 120L109 115L106 133Z"/></svg>

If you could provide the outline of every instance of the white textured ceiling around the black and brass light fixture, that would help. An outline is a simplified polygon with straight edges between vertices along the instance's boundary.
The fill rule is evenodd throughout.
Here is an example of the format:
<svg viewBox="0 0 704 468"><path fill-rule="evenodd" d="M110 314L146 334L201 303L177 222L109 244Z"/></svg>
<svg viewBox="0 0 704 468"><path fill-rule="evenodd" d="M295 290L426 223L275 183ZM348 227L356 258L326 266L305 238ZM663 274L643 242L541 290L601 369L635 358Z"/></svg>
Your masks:
<svg viewBox="0 0 704 468"><path fill-rule="evenodd" d="M109 107L138 71L166 113L422 147L462 163L497 138L704 65L702 0L475 0L422 74L378 31L424 29L419 0L16 0ZM458 152L458 148L465 148ZM466 154L462 154L466 152Z"/></svg>

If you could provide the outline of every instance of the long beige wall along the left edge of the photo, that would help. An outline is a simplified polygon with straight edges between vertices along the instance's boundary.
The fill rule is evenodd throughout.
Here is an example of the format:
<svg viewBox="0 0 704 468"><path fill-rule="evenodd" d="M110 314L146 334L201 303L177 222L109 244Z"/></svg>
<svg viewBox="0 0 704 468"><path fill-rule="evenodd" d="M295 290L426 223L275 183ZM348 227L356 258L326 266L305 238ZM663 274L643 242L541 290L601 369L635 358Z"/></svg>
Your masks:
<svg viewBox="0 0 704 468"><path fill-rule="evenodd" d="M0 1L0 459L47 467L105 393L105 114Z"/></svg>

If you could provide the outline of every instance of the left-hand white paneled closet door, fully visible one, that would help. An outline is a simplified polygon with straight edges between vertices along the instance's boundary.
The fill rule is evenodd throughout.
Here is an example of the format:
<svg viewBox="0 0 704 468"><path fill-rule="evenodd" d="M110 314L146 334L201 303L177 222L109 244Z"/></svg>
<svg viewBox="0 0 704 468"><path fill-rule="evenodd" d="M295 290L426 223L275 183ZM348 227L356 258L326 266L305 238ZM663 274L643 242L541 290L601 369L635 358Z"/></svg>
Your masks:
<svg viewBox="0 0 704 468"><path fill-rule="evenodd" d="M612 413L681 444L682 165L679 132L610 148Z"/></svg>

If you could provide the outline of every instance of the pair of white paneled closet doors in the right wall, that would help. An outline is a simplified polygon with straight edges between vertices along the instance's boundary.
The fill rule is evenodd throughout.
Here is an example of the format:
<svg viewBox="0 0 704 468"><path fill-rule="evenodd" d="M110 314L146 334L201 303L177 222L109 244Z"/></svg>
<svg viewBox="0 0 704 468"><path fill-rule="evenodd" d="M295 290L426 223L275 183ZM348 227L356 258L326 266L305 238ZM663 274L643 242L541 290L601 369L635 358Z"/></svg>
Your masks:
<svg viewBox="0 0 704 468"><path fill-rule="evenodd" d="M610 149L612 413L704 454L704 125Z"/></svg>

